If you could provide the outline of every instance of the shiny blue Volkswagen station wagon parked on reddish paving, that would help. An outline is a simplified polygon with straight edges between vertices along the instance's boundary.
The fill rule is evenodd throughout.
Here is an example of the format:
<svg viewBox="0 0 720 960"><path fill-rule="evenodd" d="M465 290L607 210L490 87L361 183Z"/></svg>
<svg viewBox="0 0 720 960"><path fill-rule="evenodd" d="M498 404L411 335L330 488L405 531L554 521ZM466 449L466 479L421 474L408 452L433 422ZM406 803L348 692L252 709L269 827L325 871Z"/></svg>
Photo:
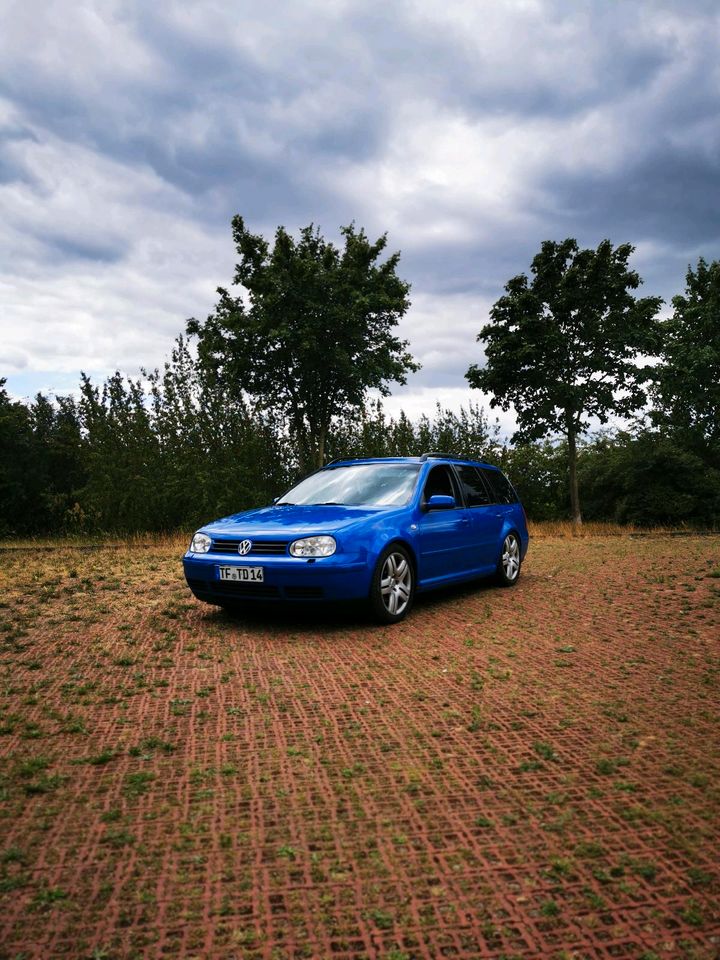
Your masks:
<svg viewBox="0 0 720 960"><path fill-rule="evenodd" d="M271 506L202 527L183 558L199 600L368 600L402 620L417 592L517 583L525 511L487 463L442 453L337 460Z"/></svg>

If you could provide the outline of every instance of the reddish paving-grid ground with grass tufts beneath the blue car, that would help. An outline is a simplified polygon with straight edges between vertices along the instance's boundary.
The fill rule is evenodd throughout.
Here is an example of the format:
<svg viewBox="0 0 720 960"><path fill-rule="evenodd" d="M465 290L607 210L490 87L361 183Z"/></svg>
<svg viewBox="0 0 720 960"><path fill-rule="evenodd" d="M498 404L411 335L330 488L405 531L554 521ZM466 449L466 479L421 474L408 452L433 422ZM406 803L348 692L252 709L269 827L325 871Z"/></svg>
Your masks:
<svg viewBox="0 0 720 960"><path fill-rule="evenodd" d="M720 954L720 539L540 540L398 627L4 553L0 957Z"/></svg>

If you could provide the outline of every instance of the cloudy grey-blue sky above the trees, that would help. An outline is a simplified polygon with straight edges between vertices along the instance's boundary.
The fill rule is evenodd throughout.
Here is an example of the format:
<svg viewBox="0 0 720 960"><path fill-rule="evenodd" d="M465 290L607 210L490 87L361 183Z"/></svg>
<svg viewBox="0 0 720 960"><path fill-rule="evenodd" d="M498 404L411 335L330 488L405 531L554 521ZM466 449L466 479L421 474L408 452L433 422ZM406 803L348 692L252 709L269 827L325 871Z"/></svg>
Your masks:
<svg viewBox="0 0 720 960"><path fill-rule="evenodd" d="M0 0L0 377L160 364L232 275L229 221L387 231L423 364L543 239L636 246L645 292L720 257L717 0Z"/></svg>

